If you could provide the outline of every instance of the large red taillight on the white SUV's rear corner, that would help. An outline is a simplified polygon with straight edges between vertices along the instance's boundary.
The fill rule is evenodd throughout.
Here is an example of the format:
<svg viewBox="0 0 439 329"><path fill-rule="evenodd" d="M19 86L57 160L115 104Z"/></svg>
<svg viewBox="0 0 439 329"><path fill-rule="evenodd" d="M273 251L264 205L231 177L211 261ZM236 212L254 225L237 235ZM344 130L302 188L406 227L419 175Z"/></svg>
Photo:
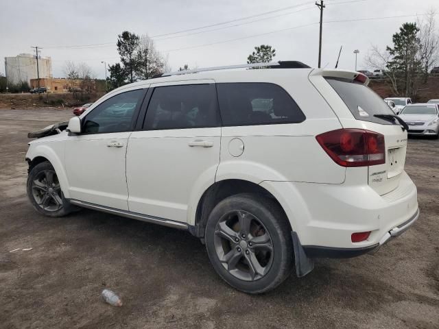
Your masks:
<svg viewBox="0 0 439 329"><path fill-rule="evenodd" d="M361 129L339 129L316 136L324 151L342 167L385 163L384 136Z"/></svg>

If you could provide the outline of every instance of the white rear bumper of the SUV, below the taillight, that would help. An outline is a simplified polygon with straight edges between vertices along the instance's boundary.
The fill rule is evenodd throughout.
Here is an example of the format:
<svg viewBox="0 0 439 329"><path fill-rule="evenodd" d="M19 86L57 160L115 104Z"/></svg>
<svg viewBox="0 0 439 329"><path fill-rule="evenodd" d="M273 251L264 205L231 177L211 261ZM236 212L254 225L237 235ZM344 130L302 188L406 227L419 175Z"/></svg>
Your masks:
<svg viewBox="0 0 439 329"><path fill-rule="evenodd" d="M389 235L409 228L418 216L416 186L405 171L399 186L385 195L367 184L355 183L265 181L261 185L281 203L307 254L339 257L340 252L358 256L372 251ZM370 236L353 243L355 232L370 232Z"/></svg>

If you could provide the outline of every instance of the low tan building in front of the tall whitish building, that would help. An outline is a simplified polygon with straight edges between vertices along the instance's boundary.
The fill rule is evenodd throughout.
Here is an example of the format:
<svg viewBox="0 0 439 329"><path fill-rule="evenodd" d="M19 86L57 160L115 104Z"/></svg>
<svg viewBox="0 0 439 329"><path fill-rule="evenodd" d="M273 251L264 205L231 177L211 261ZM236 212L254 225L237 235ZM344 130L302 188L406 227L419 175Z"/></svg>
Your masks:
<svg viewBox="0 0 439 329"><path fill-rule="evenodd" d="M72 93L73 91L94 92L95 80L69 80L64 78L40 79L40 87L46 87L47 93ZM38 88L38 79L30 80L30 88Z"/></svg>

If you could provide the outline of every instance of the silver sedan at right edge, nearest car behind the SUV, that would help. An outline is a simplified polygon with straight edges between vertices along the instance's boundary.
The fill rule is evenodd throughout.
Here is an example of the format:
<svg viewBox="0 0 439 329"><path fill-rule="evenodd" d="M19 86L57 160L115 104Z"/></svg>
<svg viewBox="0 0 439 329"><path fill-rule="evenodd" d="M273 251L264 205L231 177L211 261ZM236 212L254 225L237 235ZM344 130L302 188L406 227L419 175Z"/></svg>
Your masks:
<svg viewBox="0 0 439 329"><path fill-rule="evenodd" d="M409 134L439 136L439 104L416 103L405 106L399 117L409 126Z"/></svg>

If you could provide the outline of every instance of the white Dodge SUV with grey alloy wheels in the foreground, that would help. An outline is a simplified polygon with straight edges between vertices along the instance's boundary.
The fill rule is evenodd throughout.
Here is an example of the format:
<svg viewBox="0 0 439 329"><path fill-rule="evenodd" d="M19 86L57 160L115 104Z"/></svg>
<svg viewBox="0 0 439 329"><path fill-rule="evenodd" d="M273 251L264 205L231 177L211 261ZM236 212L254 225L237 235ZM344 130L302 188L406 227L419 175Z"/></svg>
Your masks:
<svg viewBox="0 0 439 329"><path fill-rule="evenodd" d="M412 226L407 126L365 75L250 66L268 68L128 84L67 130L45 130L26 155L34 208L188 230L247 293L274 289L294 265L305 276L316 257L374 252Z"/></svg>

